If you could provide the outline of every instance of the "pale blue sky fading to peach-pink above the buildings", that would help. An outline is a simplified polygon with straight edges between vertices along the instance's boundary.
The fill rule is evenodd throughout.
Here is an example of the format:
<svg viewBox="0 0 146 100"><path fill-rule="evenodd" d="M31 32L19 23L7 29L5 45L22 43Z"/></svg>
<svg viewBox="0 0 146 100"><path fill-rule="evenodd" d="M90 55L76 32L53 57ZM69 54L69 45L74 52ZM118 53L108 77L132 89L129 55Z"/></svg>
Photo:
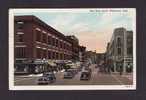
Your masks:
<svg viewBox="0 0 146 100"><path fill-rule="evenodd" d="M35 15L64 35L75 35L79 44L103 53L115 28L133 30L132 12L16 12L14 15Z"/></svg>

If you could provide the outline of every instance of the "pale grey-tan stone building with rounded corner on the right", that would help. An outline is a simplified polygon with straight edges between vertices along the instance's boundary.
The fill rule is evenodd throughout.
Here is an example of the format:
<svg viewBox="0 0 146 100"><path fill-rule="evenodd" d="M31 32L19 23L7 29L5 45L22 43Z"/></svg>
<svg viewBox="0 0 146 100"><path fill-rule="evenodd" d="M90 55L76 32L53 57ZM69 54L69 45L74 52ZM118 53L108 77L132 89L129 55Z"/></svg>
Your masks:
<svg viewBox="0 0 146 100"><path fill-rule="evenodd" d="M131 72L133 66L133 32L116 28L106 50L107 66L114 72Z"/></svg>

